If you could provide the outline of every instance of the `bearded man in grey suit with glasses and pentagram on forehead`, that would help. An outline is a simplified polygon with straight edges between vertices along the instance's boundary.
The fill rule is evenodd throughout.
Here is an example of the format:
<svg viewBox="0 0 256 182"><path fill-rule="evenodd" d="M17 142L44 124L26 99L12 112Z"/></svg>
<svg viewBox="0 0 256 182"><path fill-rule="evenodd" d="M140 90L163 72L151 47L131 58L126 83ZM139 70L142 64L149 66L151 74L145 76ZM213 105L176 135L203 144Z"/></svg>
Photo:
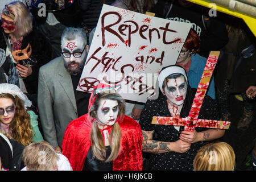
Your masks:
<svg viewBox="0 0 256 182"><path fill-rule="evenodd" d="M61 56L39 70L38 107L44 139L61 152L68 124L88 113L90 93L77 91L89 46L81 28L65 28Z"/></svg>

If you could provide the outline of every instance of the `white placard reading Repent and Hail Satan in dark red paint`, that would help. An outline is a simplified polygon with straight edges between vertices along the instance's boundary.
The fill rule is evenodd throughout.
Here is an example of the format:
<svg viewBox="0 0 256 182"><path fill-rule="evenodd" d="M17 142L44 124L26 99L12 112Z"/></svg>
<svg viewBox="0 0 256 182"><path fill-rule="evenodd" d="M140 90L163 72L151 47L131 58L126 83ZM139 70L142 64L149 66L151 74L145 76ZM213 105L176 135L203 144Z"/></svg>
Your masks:
<svg viewBox="0 0 256 182"><path fill-rule="evenodd" d="M176 63L190 28L191 23L104 5L77 90L121 84L123 98L146 102L158 93L159 71Z"/></svg>

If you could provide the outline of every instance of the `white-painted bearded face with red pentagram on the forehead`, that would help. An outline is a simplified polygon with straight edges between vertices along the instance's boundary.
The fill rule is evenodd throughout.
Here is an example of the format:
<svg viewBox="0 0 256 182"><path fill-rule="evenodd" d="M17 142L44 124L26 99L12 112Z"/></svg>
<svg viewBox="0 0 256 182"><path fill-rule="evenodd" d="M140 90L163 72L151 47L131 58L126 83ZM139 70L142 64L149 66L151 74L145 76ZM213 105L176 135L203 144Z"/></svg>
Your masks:
<svg viewBox="0 0 256 182"><path fill-rule="evenodd" d="M70 57L64 57L63 54L61 54L61 56L64 59L64 63L65 63L65 68L67 69L67 71L71 74L76 74L76 73L80 73L82 71L82 68L84 67L84 63L85 63L85 58L87 55L86 52L86 45L84 44L84 42L82 42L82 38L80 36L77 36L74 40L67 40L67 39L63 39L63 41L61 42L61 52L66 52L66 53L77 53L77 52L82 52L81 57L75 57L74 55L70 55Z"/></svg>

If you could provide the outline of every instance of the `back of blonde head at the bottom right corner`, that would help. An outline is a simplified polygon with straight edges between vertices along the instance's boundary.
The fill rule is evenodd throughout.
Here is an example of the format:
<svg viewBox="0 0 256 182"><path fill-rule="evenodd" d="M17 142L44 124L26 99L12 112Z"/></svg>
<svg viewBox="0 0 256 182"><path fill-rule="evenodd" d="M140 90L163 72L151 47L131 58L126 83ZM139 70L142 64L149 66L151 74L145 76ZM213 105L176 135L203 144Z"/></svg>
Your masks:
<svg viewBox="0 0 256 182"><path fill-rule="evenodd" d="M216 142L200 148L193 167L195 171L232 171L235 164L233 148L228 143Z"/></svg>

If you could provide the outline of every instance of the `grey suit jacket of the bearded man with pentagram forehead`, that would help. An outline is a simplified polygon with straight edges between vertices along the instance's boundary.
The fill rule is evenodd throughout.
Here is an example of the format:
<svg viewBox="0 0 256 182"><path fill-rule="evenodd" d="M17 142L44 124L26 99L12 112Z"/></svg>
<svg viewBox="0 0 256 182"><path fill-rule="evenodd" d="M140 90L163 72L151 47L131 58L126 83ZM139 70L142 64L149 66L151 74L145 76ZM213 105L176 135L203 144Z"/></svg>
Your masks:
<svg viewBox="0 0 256 182"><path fill-rule="evenodd" d="M44 139L53 147L60 146L68 124L78 117L71 75L61 57L39 70L38 109Z"/></svg>

